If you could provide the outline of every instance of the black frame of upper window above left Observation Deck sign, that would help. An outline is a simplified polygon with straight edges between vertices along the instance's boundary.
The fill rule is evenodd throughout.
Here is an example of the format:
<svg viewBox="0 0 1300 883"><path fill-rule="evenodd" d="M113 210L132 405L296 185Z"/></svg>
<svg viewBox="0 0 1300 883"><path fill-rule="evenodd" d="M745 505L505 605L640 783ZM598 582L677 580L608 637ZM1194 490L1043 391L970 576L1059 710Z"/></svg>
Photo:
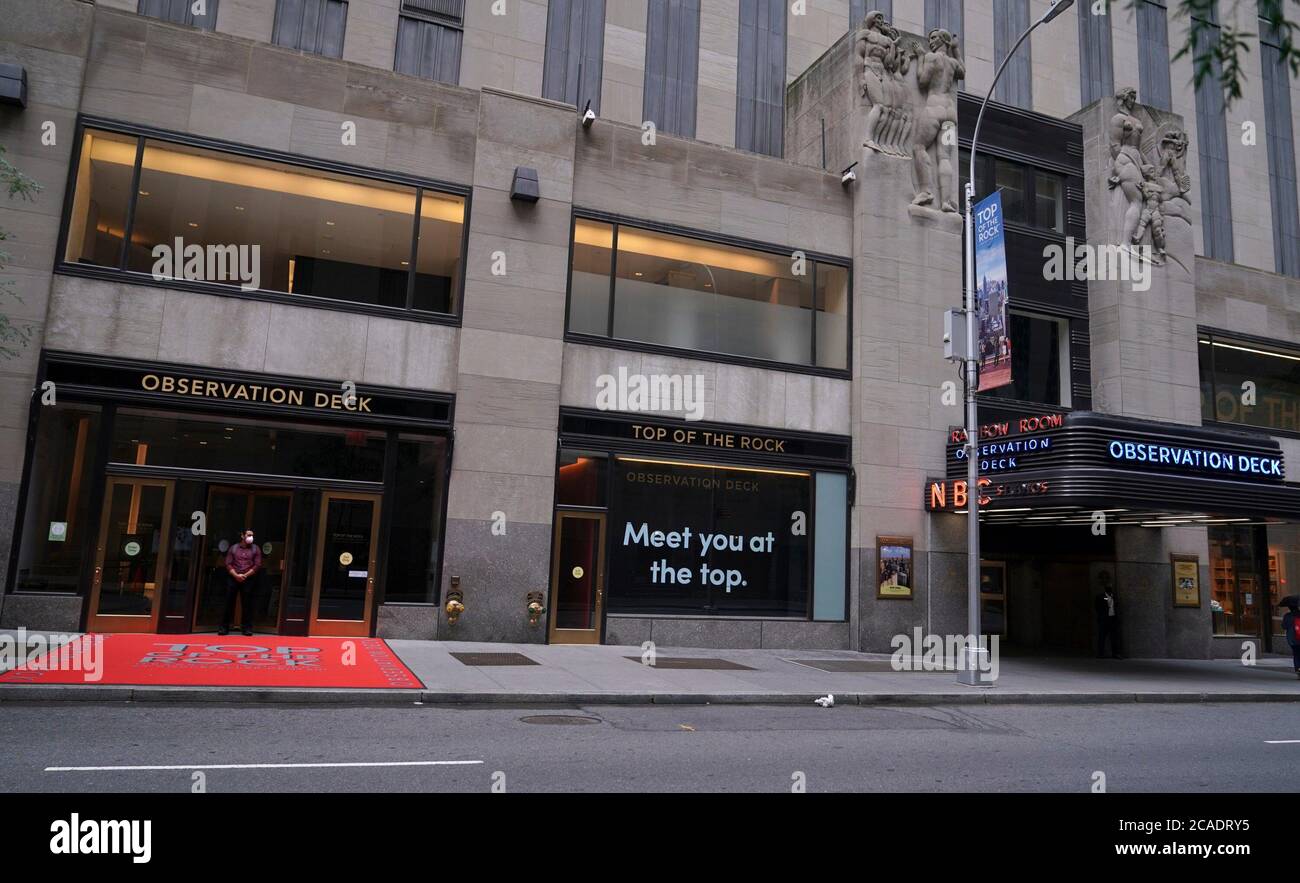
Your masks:
<svg viewBox="0 0 1300 883"><path fill-rule="evenodd" d="M420 233L420 203L422 200L422 194L425 190L432 190L436 192L446 194L450 196L460 196L464 199L465 211L464 218L462 220L462 235L460 235L460 280L456 283L456 289L452 295L456 299L455 311L447 313L426 312L420 310L412 310L408 307L384 307L380 304L360 303L355 300L338 300L335 298L320 298L309 294L290 294L287 291L265 291L265 290L251 290L244 291L239 286L222 285L220 282L203 282L194 280L156 280L151 273L142 273L139 270L131 270L125 267L125 260L122 256L118 257L117 267L99 267L92 264L78 264L75 261L68 260L68 233L72 225L72 209L75 198L77 189L77 169L81 165L81 152L86 143L86 130L98 130L117 135L129 135L136 139L135 146L135 169L133 172L131 179L131 200L126 207L126 229L124 239L129 239L131 234L131 226L135 221L135 205L139 199L139 183L140 183L140 161L143 157L143 142L166 142L172 144L179 144L183 147L198 147L203 150L211 150L221 153L226 153L235 159L255 159L266 160L272 163L282 163L285 165L291 165L299 169L315 170L315 172L329 172L334 174L346 174L363 181L376 181L382 183L395 183L415 189L415 213L412 215L411 225L411 267L407 276L407 303L411 303L411 290L415 281L415 273L417 270L416 263L416 244L419 242ZM280 303L291 307L303 307L308 310L334 310L338 312L351 312L351 313L365 313L369 316L386 316L389 319L404 319L408 321L432 323L438 325L460 325L462 317L464 316L464 291L465 291L465 268L468 264L469 255L469 217L472 211L473 189L467 185L458 185L448 181L436 181L432 178L420 178L416 176L407 176L402 173L389 173L380 172L376 169L368 169L364 166L350 165L346 163L335 163L333 160L315 159L307 156L299 156L295 153L286 153L282 151L272 151L260 147L250 147L247 144L238 144L234 142L221 140L216 138L202 138L196 135L190 135L185 133L168 131L165 129L156 129L152 126L140 126L135 124L121 122L117 120L107 120L103 117L78 114L77 117L77 130L75 130L75 144L73 146L73 155L68 165L68 179L64 187L64 205L62 213L58 222L58 242L55 252L55 265L53 273L56 276L79 276L83 278L96 278L110 282L126 282L130 285L147 285L152 287L161 289L174 289L181 291L194 291L198 294L213 294L228 298L239 298L244 300L263 300L269 303ZM124 256L126 250L124 248Z"/></svg>

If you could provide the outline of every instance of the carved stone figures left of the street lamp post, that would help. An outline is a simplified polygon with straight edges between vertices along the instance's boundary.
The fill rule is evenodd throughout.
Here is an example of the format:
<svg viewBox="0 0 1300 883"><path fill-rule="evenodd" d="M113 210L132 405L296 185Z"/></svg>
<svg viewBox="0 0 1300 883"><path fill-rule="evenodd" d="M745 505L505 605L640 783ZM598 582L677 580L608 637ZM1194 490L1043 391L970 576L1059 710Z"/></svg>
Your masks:
<svg viewBox="0 0 1300 883"><path fill-rule="evenodd" d="M957 82L966 78L966 66L957 38L936 27L922 43L875 10L863 20L855 52L858 94L867 108L862 146L911 159L913 205L959 212Z"/></svg>

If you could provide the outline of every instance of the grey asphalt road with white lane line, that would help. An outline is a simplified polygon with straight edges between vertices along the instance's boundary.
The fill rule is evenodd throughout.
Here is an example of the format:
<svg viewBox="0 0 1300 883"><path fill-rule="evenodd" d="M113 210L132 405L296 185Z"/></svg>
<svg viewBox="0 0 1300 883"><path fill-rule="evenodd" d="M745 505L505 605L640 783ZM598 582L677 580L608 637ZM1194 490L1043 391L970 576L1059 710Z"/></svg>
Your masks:
<svg viewBox="0 0 1300 883"><path fill-rule="evenodd" d="M572 710L5 704L0 745L0 792L187 792L196 780L211 793L490 791L494 783L521 792L736 792L790 791L800 775L809 792L1087 792L1096 772L1110 792L1275 792L1297 789L1300 715L1280 702Z"/></svg>

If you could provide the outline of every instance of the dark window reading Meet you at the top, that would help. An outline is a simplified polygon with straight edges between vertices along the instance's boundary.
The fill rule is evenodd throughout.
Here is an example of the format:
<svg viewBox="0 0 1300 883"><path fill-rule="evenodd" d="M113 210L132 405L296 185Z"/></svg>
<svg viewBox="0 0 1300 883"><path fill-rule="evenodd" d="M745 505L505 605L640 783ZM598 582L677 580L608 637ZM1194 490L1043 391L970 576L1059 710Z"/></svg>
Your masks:
<svg viewBox="0 0 1300 883"><path fill-rule="evenodd" d="M610 613L806 618L812 475L619 456ZM842 525L841 525L842 527Z"/></svg>

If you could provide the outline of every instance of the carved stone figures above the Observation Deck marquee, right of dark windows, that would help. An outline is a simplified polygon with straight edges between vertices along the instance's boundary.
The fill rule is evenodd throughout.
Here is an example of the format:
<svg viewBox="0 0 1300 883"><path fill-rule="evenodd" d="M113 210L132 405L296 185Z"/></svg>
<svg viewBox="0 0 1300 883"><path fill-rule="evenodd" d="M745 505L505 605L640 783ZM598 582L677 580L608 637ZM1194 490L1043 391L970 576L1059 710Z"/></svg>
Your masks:
<svg viewBox="0 0 1300 883"><path fill-rule="evenodd" d="M1171 122L1160 125L1138 105L1138 90L1126 86L1115 92L1109 135L1106 183L1117 194L1119 244L1145 246L1149 241L1152 263L1164 264L1170 239L1166 221L1191 224L1187 133ZM1190 226L1179 230L1179 239L1190 235Z"/></svg>

